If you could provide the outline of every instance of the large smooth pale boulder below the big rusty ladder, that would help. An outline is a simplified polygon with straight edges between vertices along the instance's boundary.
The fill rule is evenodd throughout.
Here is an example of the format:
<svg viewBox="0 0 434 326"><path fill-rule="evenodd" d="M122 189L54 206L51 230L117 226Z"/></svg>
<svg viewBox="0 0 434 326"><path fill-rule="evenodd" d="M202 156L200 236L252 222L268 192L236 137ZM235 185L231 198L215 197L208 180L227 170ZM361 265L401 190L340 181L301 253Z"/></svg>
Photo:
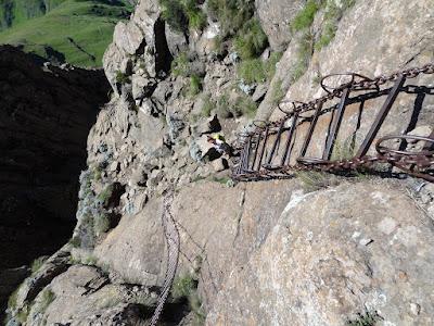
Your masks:
<svg viewBox="0 0 434 326"><path fill-rule="evenodd" d="M368 310L385 324L430 325L426 218L394 184L294 196L263 247L228 277L206 324L345 325Z"/></svg>

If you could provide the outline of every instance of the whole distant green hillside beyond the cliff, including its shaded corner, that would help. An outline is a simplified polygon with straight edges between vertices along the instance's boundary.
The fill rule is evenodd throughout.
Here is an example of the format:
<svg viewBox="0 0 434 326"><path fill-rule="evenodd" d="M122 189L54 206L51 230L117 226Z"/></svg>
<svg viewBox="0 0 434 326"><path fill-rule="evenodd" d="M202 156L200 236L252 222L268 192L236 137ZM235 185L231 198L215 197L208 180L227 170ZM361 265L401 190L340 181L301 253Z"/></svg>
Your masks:
<svg viewBox="0 0 434 326"><path fill-rule="evenodd" d="M51 62L101 66L114 26L131 10L126 0L2 0L0 43Z"/></svg>

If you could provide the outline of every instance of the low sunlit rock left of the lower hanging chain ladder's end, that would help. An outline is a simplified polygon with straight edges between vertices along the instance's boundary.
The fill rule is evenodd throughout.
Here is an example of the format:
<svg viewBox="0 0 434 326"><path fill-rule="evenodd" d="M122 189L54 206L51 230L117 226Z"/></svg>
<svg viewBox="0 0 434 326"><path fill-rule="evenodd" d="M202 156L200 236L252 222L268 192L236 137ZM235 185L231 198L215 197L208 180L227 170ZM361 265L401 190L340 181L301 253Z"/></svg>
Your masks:
<svg viewBox="0 0 434 326"><path fill-rule="evenodd" d="M48 289L53 300L42 312L33 306L30 325L139 325L152 312L148 308L143 315L143 308L156 300L148 288L111 285L100 269L86 265L69 267Z"/></svg>

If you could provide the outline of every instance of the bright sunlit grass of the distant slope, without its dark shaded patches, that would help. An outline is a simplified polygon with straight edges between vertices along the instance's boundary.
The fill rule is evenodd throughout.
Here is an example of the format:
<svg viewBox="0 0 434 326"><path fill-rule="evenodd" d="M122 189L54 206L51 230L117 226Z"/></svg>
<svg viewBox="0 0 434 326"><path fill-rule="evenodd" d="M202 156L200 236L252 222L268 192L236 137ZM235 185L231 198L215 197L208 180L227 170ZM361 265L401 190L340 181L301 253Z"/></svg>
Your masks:
<svg viewBox="0 0 434 326"><path fill-rule="evenodd" d="M131 10L127 4L113 5L101 0L47 2L58 5L50 5L51 11L35 18L26 18L22 12L15 16L16 21L11 28L0 33L0 43L21 45L25 51L42 57L46 57L44 46L50 46L62 52L66 62L80 66L101 66L102 55L112 41L116 22L126 18Z"/></svg>

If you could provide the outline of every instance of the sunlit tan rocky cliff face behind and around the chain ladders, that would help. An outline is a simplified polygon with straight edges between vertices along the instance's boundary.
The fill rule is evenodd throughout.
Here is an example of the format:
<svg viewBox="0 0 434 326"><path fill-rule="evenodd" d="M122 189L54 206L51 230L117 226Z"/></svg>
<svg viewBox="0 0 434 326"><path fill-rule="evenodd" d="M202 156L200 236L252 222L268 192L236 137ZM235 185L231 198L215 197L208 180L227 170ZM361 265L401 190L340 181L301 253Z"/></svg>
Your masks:
<svg viewBox="0 0 434 326"><path fill-rule="evenodd" d="M253 118L252 103L260 103L256 118L278 118L279 88L286 99L306 101L320 96L312 87L318 74L354 68L371 75L433 60L429 1L328 1L307 29L290 34L285 18L293 20L304 2L256 1L255 17L271 49L254 63L270 64L278 58L272 50L285 53L272 80L253 84L238 75L242 59L234 39L221 41L225 22L213 18L203 32L190 26L177 33L165 24L158 1L143 0L130 22L116 26L104 57L114 96L89 133L77 225L66 250L71 261L50 283L42 277L49 263L28 278L47 283L33 292L31 281L24 283L18 293L33 293L31 302L10 306L11 321L27 306L27 325L149 323L167 272L162 213L171 189L180 280L164 324L433 324L431 184L299 173L290 180L234 185L229 154L208 141L221 133L233 143ZM197 9L210 10L202 2ZM334 38L315 47L331 23ZM421 35L419 42L414 35ZM312 42L307 51L306 37ZM430 85L431 77L412 82ZM387 131L430 133L432 101L426 89L400 95ZM367 121L357 131L380 102L366 104ZM353 123L355 112L349 108L345 121ZM343 124L344 134L352 126ZM188 289L177 301L180 285Z"/></svg>

